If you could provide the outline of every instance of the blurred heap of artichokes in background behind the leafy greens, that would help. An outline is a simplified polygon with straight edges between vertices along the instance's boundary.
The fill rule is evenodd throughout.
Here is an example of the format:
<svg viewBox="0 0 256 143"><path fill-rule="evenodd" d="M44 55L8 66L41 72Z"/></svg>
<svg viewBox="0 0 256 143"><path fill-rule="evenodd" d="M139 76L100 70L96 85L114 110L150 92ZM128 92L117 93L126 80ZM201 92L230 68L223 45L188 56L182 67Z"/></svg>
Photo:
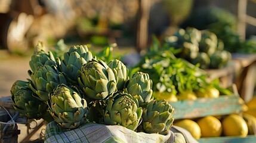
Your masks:
<svg viewBox="0 0 256 143"><path fill-rule="evenodd" d="M178 29L172 36L166 36L165 48L175 49L175 56L184 58L201 69L220 69L226 66L232 55L224 50L221 39L209 30L198 30L193 27Z"/></svg>

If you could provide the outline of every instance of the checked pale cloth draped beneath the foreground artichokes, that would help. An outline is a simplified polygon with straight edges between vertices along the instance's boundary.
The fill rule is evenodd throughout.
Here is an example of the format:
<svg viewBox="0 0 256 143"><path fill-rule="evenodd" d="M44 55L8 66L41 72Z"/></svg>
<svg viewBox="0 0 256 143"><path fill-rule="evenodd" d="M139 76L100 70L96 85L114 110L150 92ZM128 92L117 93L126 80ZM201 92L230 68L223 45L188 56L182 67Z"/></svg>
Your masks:
<svg viewBox="0 0 256 143"><path fill-rule="evenodd" d="M167 135L157 133L134 132L123 126L106 126L88 123L80 128L66 130L57 123L48 123L45 129L45 143L47 142L174 142L175 134L169 130Z"/></svg>

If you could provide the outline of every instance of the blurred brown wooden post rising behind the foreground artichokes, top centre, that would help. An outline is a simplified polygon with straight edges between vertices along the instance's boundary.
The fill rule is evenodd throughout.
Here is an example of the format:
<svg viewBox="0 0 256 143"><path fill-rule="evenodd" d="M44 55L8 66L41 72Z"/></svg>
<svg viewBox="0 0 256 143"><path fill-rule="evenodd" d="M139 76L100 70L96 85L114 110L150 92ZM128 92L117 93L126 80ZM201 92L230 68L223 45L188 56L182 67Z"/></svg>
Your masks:
<svg viewBox="0 0 256 143"><path fill-rule="evenodd" d="M143 51L147 46L147 27L149 21L149 0L138 0L138 27L137 27L137 39L136 39L136 50L138 52Z"/></svg>

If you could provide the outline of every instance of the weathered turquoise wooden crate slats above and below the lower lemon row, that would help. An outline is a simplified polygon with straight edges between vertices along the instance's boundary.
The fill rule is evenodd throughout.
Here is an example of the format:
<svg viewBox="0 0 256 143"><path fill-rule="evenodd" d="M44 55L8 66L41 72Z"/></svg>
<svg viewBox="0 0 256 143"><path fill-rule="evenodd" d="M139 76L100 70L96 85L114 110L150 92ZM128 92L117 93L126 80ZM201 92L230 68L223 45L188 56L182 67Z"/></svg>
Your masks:
<svg viewBox="0 0 256 143"><path fill-rule="evenodd" d="M194 119L211 115L226 115L240 113L243 103L235 85L233 85L232 95L221 95L219 98L198 98L197 100L184 100L170 102L174 107L174 119ZM200 143L240 143L256 142L255 135L248 135L246 138L235 136L220 136L212 138L200 138Z"/></svg>

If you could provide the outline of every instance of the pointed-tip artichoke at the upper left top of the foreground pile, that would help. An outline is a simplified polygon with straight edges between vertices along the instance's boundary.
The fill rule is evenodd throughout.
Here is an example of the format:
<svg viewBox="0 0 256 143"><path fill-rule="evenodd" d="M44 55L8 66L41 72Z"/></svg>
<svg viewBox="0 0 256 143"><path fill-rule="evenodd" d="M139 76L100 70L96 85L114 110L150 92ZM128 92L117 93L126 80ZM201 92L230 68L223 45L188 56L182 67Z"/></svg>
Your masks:
<svg viewBox="0 0 256 143"><path fill-rule="evenodd" d="M29 72L32 73L39 66L43 66L44 64L55 66L55 57L51 51L48 51L48 53L45 52L44 45L42 44L42 42L38 42L38 45L36 45L35 47L35 52L32 55L31 60L29 61L29 66L32 70Z"/></svg>

